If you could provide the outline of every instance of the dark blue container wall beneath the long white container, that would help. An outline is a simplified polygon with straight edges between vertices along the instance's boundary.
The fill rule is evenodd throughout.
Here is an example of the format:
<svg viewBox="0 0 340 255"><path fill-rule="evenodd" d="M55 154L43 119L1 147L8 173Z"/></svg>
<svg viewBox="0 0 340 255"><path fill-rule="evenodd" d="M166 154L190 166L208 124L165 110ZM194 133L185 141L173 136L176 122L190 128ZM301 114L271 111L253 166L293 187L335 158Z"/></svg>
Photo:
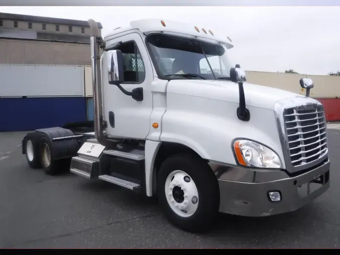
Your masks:
<svg viewBox="0 0 340 255"><path fill-rule="evenodd" d="M86 121L86 98L0 98L0 132L30 131Z"/></svg>

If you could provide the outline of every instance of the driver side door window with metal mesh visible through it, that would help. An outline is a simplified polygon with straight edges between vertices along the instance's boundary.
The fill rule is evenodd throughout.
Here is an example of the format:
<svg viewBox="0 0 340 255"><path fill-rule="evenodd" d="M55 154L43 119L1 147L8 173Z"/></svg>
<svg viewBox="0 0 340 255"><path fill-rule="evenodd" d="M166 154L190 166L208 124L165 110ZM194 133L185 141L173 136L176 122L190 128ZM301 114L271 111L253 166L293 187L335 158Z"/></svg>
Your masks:
<svg viewBox="0 0 340 255"><path fill-rule="evenodd" d="M121 50L124 66L124 84L140 84L145 80L145 66L134 41L120 44L116 49Z"/></svg>

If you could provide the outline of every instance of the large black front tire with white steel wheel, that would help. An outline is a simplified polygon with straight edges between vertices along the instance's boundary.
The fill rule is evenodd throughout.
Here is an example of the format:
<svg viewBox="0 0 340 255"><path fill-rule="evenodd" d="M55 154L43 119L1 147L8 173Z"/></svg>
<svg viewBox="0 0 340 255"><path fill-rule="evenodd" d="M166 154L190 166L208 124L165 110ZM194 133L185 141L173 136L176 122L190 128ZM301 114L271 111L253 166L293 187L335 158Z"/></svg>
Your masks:
<svg viewBox="0 0 340 255"><path fill-rule="evenodd" d="M157 196L166 218L185 231L208 230L219 211L218 180L208 163L192 154L173 155L163 162Z"/></svg>

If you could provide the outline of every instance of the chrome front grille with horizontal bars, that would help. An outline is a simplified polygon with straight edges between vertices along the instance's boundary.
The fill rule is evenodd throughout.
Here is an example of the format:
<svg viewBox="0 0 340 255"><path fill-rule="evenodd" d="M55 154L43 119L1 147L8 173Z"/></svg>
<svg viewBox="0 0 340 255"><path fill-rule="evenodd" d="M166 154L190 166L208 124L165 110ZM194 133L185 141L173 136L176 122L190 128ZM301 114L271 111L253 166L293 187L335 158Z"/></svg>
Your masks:
<svg viewBox="0 0 340 255"><path fill-rule="evenodd" d="M327 151L327 128L322 106L314 109L288 108L284 111L285 130L294 167L317 160Z"/></svg>

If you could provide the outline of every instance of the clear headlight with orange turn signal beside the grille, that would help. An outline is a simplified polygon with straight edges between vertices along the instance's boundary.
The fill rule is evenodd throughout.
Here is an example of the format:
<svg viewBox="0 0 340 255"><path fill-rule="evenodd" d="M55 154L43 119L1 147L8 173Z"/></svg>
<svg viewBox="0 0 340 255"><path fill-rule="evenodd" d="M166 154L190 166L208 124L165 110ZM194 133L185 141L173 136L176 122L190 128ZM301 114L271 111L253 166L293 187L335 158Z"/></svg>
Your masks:
<svg viewBox="0 0 340 255"><path fill-rule="evenodd" d="M279 156L269 148L248 140L234 143L238 162L244 166L261 168L282 168Z"/></svg>

